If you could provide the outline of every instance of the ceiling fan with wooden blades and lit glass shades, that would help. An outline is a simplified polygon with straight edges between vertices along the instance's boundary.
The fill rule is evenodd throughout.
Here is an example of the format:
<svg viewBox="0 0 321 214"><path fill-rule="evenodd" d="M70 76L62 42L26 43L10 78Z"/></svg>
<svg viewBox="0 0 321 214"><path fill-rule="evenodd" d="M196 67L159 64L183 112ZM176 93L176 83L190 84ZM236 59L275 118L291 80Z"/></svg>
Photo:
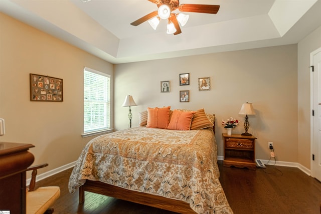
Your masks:
<svg viewBox="0 0 321 214"><path fill-rule="evenodd" d="M219 5L197 5L197 4L182 4L180 5L179 0L148 0L157 5L158 10L153 11L146 16L141 17L140 19L130 23L132 26L138 26L143 22L148 20L150 26L155 30L159 24L159 18L163 20L168 20L167 33L178 35L182 33L181 26L184 26L188 19L189 15L182 13L176 14L173 13L175 10L180 12L194 12L194 13L205 13L205 14L217 14L220 9Z"/></svg>

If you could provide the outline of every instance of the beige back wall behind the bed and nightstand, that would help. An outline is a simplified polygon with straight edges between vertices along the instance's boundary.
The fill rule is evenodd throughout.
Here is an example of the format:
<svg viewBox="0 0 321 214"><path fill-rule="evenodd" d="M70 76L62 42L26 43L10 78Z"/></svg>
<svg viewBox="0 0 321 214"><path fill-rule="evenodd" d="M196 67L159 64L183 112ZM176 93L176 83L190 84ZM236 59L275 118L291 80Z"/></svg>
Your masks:
<svg viewBox="0 0 321 214"><path fill-rule="evenodd" d="M238 112L245 102L253 103L256 115L249 116L250 129L257 137L256 157L269 159L272 141L279 161L298 161L297 150L297 46L287 45L115 65L115 128L128 127L126 95L132 107L133 125L137 113L146 107L172 106L200 109L216 115L219 155L223 155L221 120L235 117L244 132L244 116ZM190 73L190 85L179 86L179 74ZM198 78L210 77L211 90L199 91ZM161 93L160 82L171 81L171 92ZM190 90L190 102L179 102L179 91Z"/></svg>

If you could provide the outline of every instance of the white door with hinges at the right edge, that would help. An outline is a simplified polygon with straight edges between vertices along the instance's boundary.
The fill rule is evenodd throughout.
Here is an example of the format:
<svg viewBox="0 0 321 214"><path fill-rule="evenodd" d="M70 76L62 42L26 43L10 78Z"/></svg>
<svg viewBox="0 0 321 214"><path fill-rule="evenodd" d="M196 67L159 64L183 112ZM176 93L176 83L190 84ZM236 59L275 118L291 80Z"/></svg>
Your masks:
<svg viewBox="0 0 321 214"><path fill-rule="evenodd" d="M314 110L311 176L321 181L321 48L311 53L312 72L312 109ZM313 160L314 159L314 160Z"/></svg>

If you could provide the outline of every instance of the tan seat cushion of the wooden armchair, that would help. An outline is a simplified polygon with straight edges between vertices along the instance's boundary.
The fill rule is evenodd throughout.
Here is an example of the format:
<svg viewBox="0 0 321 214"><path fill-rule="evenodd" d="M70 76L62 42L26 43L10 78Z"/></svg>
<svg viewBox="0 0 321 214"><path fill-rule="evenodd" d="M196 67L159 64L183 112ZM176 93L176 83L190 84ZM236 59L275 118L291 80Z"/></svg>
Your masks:
<svg viewBox="0 0 321 214"><path fill-rule="evenodd" d="M43 214L59 196L59 186L45 186L28 191L26 193L27 214Z"/></svg>

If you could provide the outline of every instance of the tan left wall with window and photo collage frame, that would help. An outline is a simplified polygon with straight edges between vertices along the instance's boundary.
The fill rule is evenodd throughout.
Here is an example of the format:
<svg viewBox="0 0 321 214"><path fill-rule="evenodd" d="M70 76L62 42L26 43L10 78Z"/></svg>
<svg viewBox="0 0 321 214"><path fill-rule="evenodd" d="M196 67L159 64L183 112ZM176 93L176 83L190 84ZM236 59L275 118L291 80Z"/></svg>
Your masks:
<svg viewBox="0 0 321 214"><path fill-rule="evenodd" d="M32 143L40 173L75 161L83 132L83 68L113 75L113 65L0 13L0 141ZM63 102L30 101L29 74L63 79Z"/></svg>

